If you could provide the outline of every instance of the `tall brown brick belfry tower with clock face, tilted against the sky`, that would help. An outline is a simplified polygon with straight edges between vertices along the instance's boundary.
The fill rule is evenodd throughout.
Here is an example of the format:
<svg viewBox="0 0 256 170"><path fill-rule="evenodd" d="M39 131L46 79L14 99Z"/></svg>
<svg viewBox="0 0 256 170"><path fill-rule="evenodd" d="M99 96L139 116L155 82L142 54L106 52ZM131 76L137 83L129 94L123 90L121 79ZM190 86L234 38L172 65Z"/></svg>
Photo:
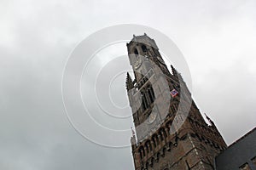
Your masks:
<svg viewBox="0 0 256 170"><path fill-rule="evenodd" d="M127 49L135 77L126 77L135 169L214 169L213 159L226 144L214 122L201 116L181 75L172 65L168 71L146 34L133 36Z"/></svg>

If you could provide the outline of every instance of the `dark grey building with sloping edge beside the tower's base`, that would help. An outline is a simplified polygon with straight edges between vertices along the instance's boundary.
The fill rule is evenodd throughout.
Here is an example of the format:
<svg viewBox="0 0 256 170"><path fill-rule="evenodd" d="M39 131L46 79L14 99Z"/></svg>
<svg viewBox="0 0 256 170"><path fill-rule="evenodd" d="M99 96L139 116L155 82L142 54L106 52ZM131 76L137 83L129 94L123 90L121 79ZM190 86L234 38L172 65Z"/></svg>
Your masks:
<svg viewBox="0 0 256 170"><path fill-rule="evenodd" d="M220 153L215 164L217 170L256 169L256 127Z"/></svg>

